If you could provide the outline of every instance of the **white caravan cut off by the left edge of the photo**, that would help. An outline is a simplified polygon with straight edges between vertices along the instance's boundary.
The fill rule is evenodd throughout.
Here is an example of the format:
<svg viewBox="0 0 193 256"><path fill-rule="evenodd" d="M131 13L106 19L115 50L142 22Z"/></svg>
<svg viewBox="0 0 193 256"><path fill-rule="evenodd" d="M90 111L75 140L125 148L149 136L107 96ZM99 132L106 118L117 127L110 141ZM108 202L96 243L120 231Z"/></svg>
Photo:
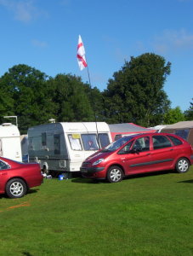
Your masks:
<svg viewBox="0 0 193 256"><path fill-rule="evenodd" d="M22 161L20 131L16 125L0 125L0 155L11 160Z"/></svg>

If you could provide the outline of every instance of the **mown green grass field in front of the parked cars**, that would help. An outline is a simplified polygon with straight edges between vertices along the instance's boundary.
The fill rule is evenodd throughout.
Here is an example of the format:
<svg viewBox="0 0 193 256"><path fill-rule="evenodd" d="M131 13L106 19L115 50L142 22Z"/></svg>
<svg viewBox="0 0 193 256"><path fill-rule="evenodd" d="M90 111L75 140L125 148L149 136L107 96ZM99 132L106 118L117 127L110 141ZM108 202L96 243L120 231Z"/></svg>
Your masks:
<svg viewBox="0 0 193 256"><path fill-rule="evenodd" d="M94 182L44 180L0 197L0 255L193 255L193 166Z"/></svg>

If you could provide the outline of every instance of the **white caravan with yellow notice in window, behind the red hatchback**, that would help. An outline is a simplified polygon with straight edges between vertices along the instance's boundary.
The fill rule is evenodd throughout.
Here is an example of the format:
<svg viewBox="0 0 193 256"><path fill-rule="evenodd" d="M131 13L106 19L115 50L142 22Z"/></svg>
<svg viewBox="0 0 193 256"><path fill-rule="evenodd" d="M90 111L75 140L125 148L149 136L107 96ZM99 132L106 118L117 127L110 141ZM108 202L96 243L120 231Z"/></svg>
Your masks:
<svg viewBox="0 0 193 256"><path fill-rule="evenodd" d="M28 129L29 161L38 162L46 173L79 172L83 160L109 143L105 122L51 123Z"/></svg>

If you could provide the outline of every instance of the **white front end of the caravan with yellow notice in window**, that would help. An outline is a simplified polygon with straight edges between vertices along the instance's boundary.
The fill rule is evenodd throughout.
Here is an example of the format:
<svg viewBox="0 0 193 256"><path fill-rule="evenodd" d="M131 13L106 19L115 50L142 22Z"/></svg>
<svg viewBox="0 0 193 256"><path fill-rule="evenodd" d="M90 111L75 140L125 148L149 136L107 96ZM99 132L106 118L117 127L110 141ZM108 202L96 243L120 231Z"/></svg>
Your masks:
<svg viewBox="0 0 193 256"><path fill-rule="evenodd" d="M111 143L109 127L104 122L61 123L65 131L70 172L80 171L82 161ZM98 135L98 137L97 137Z"/></svg>

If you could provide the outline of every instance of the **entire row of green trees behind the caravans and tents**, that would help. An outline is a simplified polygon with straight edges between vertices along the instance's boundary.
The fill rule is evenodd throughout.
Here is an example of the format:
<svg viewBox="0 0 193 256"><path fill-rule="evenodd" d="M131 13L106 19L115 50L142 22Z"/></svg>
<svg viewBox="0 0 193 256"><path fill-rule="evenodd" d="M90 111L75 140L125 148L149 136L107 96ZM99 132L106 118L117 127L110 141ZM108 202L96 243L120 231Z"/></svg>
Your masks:
<svg viewBox="0 0 193 256"><path fill-rule="evenodd" d="M184 113L163 90L171 63L145 53L125 61L100 91L83 83L81 77L60 73L54 78L24 64L9 68L0 78L0 113L15 115L21 134L33 125L60 122L132 122L145 127L193 119L192 108Z"/></svg>

